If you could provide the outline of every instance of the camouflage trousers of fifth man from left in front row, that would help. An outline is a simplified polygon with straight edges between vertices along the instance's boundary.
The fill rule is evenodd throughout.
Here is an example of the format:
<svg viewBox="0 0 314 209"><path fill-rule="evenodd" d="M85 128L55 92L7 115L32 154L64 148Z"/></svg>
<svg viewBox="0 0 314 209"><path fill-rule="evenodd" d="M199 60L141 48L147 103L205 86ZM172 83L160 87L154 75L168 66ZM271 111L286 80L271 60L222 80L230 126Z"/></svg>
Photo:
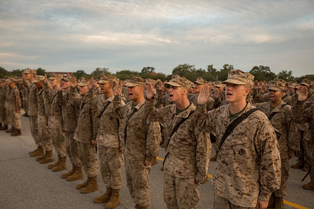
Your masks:
<svg viewBox="0 0 314 209"><path fill-rule="evenodd" d="M82 167L88 177L98 175L98 163L96 156L96 146L92 144L85 144L77 141L78 155L81 160Z"/></svg>

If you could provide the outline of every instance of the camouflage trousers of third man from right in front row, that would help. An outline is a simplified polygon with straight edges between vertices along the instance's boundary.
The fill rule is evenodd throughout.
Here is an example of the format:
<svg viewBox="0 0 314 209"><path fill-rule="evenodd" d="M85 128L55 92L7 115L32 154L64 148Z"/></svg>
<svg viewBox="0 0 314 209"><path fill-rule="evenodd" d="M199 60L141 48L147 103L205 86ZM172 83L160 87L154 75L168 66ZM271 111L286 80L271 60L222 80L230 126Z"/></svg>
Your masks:
<svg viewBox="0 0 314 209"><path fill-rule="evenodd" d="M144 165L144 160L130 160L124 156L127 188L135 204L141 207L149 205L149 172L151 165Z"/></svg>

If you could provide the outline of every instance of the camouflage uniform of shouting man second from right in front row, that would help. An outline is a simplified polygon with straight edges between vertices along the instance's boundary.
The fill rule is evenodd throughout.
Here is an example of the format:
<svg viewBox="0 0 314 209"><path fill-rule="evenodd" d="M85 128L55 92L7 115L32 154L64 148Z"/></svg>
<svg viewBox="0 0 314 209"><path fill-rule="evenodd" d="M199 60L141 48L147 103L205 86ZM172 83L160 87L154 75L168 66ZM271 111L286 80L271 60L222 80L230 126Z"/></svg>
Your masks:
<svg viewBox="0 0 314 209"><path fill-rule="evenodd" d="M156 109L154 102L145 103L149 121L165 124L164 201L168 208L195 208L200 195L194 180L201 183L207 175L211 144L208 133L198 133L194 129L195 117L189 116L195 110L192 103L178 115L176 110L175 104ZM182 118L187 120L170 138Z"/></svg>

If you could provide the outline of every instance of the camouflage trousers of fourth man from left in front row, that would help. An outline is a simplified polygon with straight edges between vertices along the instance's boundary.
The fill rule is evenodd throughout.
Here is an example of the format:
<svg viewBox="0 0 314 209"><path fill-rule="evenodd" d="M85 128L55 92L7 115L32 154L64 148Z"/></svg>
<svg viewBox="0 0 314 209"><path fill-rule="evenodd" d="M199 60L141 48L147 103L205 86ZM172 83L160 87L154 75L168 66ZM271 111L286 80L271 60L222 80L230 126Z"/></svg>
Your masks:
<svg viewBox="0 0 314 209"><path fill-rule="evenodd" d="M65 148L71 164L74 164L75 166L80 166L82 164L78 155L78 144L73 137L74 131L65 131Z"/></svg>

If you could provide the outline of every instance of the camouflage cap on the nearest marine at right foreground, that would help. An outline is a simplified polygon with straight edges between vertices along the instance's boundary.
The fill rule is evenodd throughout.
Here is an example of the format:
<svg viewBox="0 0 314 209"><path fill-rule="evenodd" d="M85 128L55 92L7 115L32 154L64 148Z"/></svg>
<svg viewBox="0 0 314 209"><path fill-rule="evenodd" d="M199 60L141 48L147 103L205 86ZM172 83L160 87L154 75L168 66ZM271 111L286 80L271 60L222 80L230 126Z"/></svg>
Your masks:
<svg viewBox="0 0 314 209"><path fill-rule="evenodd" d="M248 84L252 86L253 80L254 80L254 76L251 75L250 73L232 69L228 73L228 79L221 83L222 84L233 83L233 84L239 84L239 85Z"/></svg>

